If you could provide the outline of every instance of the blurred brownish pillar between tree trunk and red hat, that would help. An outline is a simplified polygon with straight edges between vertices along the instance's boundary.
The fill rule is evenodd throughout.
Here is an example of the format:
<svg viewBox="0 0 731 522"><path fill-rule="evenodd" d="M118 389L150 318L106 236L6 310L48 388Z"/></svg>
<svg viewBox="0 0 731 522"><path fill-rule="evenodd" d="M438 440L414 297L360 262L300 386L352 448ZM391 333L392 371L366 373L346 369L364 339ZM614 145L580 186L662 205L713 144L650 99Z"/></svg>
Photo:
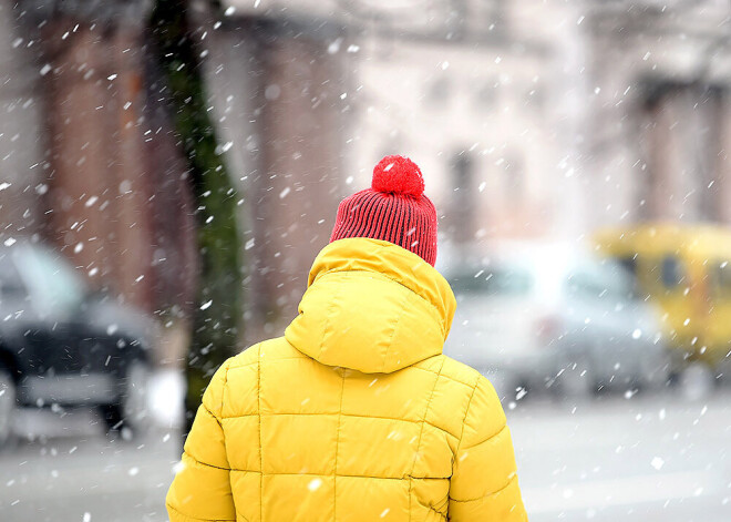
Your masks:
<svg viewBox="0 0 731 522"><path fill-rule="evenodd" d="M265 309L297 314L307 275L334 223L341 177L344 68L317 35L275 38L264 49L262 171L254 180L258 284Z"/></svg>

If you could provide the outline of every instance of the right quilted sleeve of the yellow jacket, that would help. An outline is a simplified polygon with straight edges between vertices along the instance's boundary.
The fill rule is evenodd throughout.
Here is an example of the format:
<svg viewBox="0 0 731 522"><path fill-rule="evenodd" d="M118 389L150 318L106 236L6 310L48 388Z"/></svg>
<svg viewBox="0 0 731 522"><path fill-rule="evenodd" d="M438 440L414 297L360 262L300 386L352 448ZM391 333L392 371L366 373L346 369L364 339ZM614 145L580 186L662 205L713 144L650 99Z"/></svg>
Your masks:
<svg viewBox="0 0 731 522"><path fill-rule="evenodd" d="M464 419L450 483L453 522L526 521L505 412L480 377Z"/></svg>

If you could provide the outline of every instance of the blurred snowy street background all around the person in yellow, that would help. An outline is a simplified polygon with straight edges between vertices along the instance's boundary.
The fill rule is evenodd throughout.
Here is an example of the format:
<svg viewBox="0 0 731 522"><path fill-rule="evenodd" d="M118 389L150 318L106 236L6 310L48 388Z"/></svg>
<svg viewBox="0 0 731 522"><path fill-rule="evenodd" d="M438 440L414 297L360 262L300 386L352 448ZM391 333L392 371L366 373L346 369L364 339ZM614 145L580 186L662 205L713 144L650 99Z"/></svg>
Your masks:
<svg viewBox="0 0 731 522"><path fill-rule="evenodd" d="M0 512L163 521L413 158L532 520L731 520L728 0L0 0Z"/></svg>

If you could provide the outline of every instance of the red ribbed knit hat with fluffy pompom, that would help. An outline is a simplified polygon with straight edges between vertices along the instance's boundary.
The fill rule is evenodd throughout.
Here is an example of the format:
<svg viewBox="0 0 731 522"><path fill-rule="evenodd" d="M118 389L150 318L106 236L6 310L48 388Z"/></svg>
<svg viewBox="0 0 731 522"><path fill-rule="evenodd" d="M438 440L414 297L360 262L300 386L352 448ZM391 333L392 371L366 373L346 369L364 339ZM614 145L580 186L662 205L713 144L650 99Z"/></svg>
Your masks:
<svg viewBox="0 0 731 522"><path fill-rule="evenodd" d="M371 188L340 202L330 243L370 237L436 262L436 209L424 195L424 178L408 157L385 156L373 168Z"/></svg>

